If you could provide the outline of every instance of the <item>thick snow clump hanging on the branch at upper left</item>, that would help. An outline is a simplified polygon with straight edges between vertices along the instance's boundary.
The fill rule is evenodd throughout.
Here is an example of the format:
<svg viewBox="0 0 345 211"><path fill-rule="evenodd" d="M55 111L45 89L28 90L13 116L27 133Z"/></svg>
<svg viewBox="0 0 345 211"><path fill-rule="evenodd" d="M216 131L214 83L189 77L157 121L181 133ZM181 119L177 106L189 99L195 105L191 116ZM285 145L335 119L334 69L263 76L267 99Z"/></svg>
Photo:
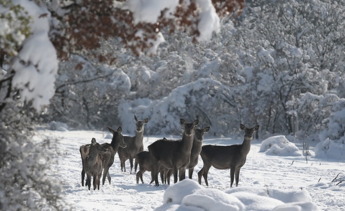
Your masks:
<svg viewBox="0 0 345 211"><path fill-rule="evenodd" d="M41 110L55 94L58 71L56 50L48 37L50 13L33 1L14 0L13 3L21 4L33 21L30 24L32 34L23 42L13 61L11 68L16 74L12 84L21 90L22 101L32 101L33 107Z"/></svg>

